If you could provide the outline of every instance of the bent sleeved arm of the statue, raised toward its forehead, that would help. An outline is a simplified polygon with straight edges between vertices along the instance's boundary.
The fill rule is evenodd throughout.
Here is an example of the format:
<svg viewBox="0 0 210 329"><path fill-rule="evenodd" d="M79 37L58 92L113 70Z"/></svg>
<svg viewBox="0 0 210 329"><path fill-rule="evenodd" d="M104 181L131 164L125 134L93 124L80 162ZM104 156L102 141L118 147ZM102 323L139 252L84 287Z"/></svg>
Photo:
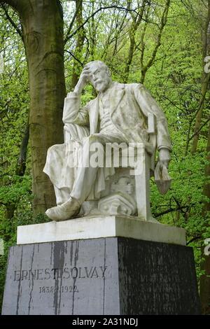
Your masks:
<svg viewBox="0 0 210 329"><path fill-rule="evenodd" d="M89 106L80 107L80 94L69 92L64 99L63 123L75 123L81 126L89 125Z"/></svg>

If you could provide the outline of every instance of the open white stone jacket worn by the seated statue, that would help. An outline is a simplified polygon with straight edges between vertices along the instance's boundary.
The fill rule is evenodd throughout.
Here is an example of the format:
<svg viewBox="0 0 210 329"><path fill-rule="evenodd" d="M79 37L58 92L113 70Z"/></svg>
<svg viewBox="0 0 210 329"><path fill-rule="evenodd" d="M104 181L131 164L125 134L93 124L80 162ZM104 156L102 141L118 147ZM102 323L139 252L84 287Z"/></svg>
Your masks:
<svg viewBox="0 0 210 329"><path fill-rule="evenodd" d="M151 113L155 116L155 143L158 151L160 148L168 148L171 151L172 143L165 114L144 85L113 83L110 104L111 121L125 135L127 143L150 142L142 121L147 122L148 114ZM98 118L99 96L80 108L80 97L75 92L68 94L64 102L63 115L66 126L71 123L81 126L90 125L92 135L99 132ZM142 128L144 128L144 134L142 134ZM153 145L154 148L156 146Z"/></svg>

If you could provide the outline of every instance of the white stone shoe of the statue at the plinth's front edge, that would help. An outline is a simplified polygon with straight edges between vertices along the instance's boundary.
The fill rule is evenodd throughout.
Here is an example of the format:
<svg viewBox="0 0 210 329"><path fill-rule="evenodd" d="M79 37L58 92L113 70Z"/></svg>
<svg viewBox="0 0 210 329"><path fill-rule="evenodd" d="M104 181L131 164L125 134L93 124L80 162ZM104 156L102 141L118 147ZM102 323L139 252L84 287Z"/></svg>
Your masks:
<svg viewBox="0 0 210 329"><path fill-rule="evenodd" d="M66 219L78 215L80 207L80 203L76 199L70 197L68 201L60 206L52 207L45 211L45 214L52 219L52 221L66 221Z"/></svg>

